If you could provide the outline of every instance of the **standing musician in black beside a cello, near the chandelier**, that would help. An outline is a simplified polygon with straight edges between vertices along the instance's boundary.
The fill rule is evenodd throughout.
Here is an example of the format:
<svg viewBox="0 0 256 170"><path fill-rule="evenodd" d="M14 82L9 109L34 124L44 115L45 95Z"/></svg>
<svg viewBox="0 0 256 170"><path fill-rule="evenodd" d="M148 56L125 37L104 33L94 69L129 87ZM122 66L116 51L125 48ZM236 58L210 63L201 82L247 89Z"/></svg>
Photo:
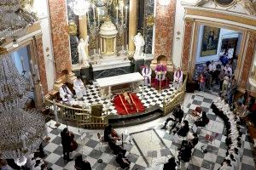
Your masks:
<svg viewBox="0 0 256 170"><path fill-rule="evenodd" d="M62 148L63 148L63 158L64 158L64 160L67 160L67 161L72 161L71 159L69 159L69 153L71 150L71 142L72 142L71 136L69 135L67 127L65 127L61 131L61 144L62 144Z"/></svg>

